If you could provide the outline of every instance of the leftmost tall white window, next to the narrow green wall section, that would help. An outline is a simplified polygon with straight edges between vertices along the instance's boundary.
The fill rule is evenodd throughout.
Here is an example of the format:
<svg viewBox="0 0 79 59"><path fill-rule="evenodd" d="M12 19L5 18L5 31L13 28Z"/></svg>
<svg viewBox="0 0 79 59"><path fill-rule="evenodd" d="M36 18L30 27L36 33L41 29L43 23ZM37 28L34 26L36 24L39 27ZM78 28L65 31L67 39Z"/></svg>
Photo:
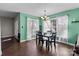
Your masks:
<svg viewBox="0 0 79 59"><path fill-rule="evenodd" d="M39 20L27 18L27 40L35 39L38 30Z"/></svg>

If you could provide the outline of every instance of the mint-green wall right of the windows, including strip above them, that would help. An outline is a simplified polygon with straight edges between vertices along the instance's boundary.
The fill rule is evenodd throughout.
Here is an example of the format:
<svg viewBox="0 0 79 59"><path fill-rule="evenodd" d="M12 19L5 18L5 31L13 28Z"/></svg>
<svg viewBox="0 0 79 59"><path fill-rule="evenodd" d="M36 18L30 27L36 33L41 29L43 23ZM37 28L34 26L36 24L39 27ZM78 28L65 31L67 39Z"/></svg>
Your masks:
<svg viewBox="0 0 79 59"><path fill-rule="evenodd" d="M55 18L64 15L68 15L68 43L74 44L77 38L77 34L79 33L79 23L72 23L72 20L74 18L79 20L79 8L49 15L49 17Z"/></svg>

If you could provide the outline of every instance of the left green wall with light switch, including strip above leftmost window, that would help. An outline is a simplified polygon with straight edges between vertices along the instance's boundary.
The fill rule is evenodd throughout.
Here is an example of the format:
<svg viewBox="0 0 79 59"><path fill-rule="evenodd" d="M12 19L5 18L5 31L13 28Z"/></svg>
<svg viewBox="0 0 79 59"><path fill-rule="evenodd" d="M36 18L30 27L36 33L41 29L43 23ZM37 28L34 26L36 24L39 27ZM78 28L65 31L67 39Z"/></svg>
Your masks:
<svg viewBox="0 0 79 59"><path fill-rule="evenodd" d="M39 19L36 16L20 13L20 41L27 40L27 18Z"/></svg>

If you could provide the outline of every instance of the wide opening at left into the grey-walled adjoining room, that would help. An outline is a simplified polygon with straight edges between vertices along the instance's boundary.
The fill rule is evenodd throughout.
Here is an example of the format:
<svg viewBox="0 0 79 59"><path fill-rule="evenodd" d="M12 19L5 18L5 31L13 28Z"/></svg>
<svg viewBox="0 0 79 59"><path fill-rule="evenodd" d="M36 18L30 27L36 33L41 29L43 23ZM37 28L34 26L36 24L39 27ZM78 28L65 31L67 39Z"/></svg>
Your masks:
<svg viewBox="0 0 79 59"><path fill-rule="evenodd" d="M18 40L18 33L19 31L16 29L19 29L19 25L16 20L19 20L19 17L17 16L18 13L10 13L12 15L15 15L14 17L8 15L8 16L1 16L1 49L4 51L5 49L9 48L11 45L13 45ZM16 35L15 35L16 34Z"/></svg>

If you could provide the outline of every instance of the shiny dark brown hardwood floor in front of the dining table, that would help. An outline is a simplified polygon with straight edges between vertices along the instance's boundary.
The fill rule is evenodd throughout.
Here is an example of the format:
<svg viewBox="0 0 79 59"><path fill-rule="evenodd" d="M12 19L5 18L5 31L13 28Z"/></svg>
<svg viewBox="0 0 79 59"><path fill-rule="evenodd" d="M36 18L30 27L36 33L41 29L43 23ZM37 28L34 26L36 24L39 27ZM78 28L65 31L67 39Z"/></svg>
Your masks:
<svg viewBox="0 0 79 59"><path fill-rule="evenodd" d="M14 40L7 45L8 47L2 51L2 56L72 56L73 54L73 47L61 43L57 43L57 48L52 47L50 51L45 46L43 48L36 46L35 40L23 43Z"/></svg>

